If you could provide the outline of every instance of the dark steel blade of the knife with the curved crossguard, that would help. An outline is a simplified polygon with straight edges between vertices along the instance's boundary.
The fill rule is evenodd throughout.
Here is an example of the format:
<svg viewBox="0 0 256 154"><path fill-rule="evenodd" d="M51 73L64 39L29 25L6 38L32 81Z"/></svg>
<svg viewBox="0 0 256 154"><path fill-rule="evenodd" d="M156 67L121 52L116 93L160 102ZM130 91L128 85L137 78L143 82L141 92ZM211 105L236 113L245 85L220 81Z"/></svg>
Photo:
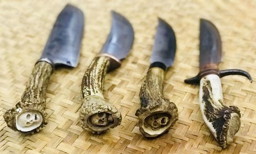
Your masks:
<svg viewBox="0 0 256 154"><path fill-rule="evenodd" d="M210 21L200 19L200 67L219 64L221 61L221 37Z"/></svg>

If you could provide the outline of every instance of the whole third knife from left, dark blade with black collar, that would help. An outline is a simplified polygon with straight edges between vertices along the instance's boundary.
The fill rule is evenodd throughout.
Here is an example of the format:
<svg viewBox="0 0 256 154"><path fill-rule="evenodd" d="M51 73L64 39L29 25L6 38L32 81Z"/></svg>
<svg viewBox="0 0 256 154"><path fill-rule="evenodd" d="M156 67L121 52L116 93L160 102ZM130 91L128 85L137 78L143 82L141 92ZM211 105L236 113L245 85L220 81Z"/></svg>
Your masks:
<svg viewBox="0 0 256 154"><path fill-rule="evenodd" d="M158 19L151 65L140 89L141 107L136 111L140 132L145 137L156 137L168 131L178 120L178 109L163 96L163 80L176 53L175 33L168 23Z"/></svg>

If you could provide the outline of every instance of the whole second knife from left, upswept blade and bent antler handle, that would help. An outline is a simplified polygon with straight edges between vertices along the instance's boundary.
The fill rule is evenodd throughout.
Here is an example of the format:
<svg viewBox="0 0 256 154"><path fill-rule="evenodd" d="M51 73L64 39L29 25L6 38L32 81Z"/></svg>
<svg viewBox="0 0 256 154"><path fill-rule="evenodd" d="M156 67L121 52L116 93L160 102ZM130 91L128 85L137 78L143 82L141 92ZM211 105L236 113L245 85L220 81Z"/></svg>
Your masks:
<svg viewBox="0 0 256 154"><path fill-rule="evenodd" d="M80 123L83 129L93 133L114 128L122 120L116 107L104 99L102 87L106 72L119 67L121 60L130 52L134 31L131 23L121 14L112 11L111 15L112 27L108 39L82 79Z"/></svg>

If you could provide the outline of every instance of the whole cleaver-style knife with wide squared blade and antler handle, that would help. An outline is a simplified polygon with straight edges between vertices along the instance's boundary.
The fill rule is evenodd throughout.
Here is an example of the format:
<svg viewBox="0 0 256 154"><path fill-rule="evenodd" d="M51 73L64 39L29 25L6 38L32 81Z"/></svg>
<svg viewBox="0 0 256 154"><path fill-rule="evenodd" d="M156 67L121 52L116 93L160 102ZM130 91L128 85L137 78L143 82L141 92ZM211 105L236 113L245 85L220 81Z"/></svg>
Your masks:
<svg viewBox="0 0 256 154"><path fill-rule="evenodd" d="M24 134L39 132L46 124L46 88L56 65L78 64L84 16L72 6L60 12L41 58L36 62L21 101L4 114L7 125Z"/></svg>

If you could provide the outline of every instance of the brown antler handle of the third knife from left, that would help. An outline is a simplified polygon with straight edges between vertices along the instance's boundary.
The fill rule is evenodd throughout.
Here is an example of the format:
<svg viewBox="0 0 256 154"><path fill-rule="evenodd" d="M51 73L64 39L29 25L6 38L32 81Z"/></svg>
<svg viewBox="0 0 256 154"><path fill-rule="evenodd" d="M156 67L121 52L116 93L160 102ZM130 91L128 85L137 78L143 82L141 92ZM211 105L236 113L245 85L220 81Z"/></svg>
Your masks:
<svg viewBox="0 0 256 154"><path fill-rule="evenodd" d="M145 137L156 137L168 131L178 120L173 102L163 97L164 70L150 68L140 90L141 108L137 110L140 132Z"/></svg>

